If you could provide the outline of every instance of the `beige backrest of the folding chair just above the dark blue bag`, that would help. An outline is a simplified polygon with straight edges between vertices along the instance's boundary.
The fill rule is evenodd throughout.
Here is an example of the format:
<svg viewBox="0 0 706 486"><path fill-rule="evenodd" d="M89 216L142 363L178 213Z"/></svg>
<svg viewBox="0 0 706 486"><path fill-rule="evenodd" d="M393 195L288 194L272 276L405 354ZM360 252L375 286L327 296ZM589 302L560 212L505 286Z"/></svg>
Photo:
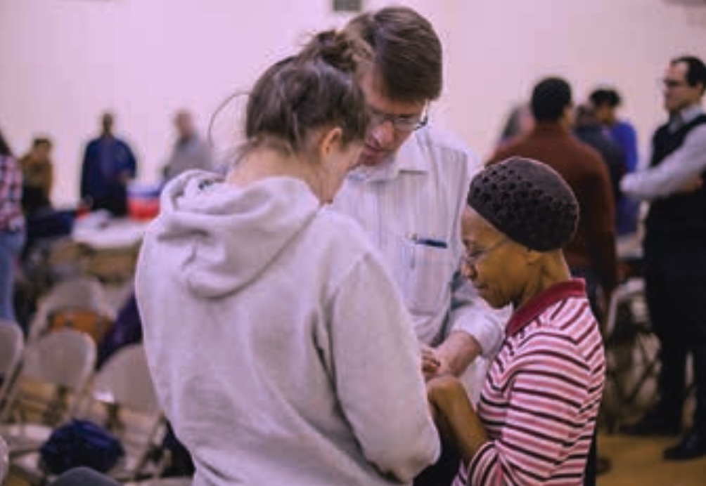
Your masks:
<svg viewBox="0 0 706 486"><path fill-rule="evenodd" d="M28 343L0 420L14 417L16 411L39 417L40 422L50 425L66 420L76 411L78 397L92 376L95 360L93 340L71 329L52 332Z"/></svg>

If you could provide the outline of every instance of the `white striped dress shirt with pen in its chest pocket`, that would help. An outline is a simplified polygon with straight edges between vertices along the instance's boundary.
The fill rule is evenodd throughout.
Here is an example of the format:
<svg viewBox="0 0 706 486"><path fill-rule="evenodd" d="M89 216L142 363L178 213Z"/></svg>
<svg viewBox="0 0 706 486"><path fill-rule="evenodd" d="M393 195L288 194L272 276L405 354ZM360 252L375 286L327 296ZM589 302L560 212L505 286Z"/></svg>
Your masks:
<svg viewBox="0 0 706 486"><path fill-rule="evenodd" d="M450 331L462 330L492 358L509 312L491 309L459 273L461 212L480 168L465 144L425 127L383 165L352 171L333 207L356 219L381 250L419 341L437 345ZM474 382L477 396L484 367L469 372L474 376L466 382Z"/></svg>

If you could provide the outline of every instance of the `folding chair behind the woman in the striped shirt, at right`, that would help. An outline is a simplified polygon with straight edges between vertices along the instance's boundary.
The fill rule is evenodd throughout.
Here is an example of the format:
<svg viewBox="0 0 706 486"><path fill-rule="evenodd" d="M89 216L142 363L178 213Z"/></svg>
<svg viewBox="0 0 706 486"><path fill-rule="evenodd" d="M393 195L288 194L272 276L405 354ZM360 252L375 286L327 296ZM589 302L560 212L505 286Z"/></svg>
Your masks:
<svg viewBox="0 0 706 486"><path fill-rule="evenodd" d="M614 291L605 344L602 412L609 432L614 432L621 421L649 406L656 396L659 341L650 325L642 278L630 278Z"/></svg>

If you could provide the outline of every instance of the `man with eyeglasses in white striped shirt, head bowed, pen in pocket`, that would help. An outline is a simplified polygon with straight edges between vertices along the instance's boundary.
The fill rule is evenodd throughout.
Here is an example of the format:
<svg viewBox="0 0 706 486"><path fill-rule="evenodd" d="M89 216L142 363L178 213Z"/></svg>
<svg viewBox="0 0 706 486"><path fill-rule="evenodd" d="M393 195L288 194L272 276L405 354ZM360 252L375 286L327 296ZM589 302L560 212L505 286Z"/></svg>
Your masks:
<svg viewBox="0 0 706 486"><path fill-rule="evenodd" d="M381 250L412 314L426 378L462 376L477 399L508 312L489 308L460 275L460 218L480 164L462 142L427 126L429 103L441 94L441 41L406 7L363 13L346 29L372 49L360 79L371 128L333 205ZM445 455L415 484L450 484L457 466L457 456Z"/></svg>

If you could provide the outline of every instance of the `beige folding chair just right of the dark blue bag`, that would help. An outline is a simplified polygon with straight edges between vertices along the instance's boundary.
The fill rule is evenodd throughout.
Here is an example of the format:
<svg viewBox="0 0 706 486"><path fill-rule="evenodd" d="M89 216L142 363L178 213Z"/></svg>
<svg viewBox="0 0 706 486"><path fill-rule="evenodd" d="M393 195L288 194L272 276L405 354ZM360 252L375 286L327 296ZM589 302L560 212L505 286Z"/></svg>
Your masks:
<svg viewBox="0 0 706 486"><path fill-rule="evenodd" d="M110 478L125 482L161 473L158 466L146 467L162 438L164 418L141 344L121 348L106 361L73 416L102 425L120 440L125 456L107 471ZM38 452L19 456L13 466L32 484L50 475Z"/></svg>

